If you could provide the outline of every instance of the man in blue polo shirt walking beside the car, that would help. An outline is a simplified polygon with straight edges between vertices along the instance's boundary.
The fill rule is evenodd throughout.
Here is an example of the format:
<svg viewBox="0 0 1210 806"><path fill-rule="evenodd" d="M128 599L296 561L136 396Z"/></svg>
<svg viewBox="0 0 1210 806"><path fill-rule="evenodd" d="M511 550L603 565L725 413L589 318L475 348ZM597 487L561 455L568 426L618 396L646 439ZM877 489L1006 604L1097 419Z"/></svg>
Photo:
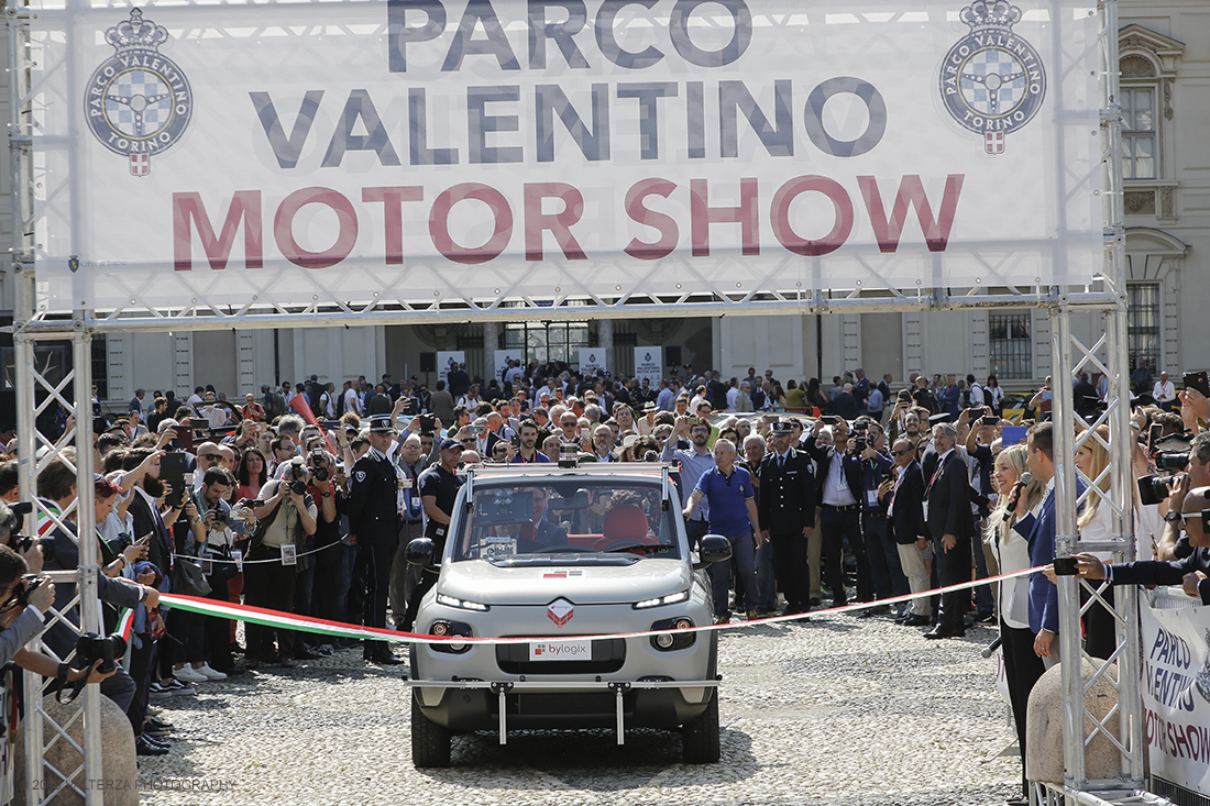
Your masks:
<svg viewBox="0 0 1210 806"><path fill-rule="evenodd" d="M760 601L756 582L756 551L765 542L760 531L760 518L756 514L756 497L753 490L751 476L743 467L736 467L736 447L730 439L714 443L715 466L702 473L685 505L685 519L693 517L693 511L702 499L710 507L710 532L722 535L731 542L731 559L714 563L709 568L710 582L714 589L714 621L725 624L731 621L727 609L727 589L731 587L731 564L736 564L737 575L744 582L744 605L749 621L756 618L756 603ZM736 603L739 605L739 603Z"/></svg>

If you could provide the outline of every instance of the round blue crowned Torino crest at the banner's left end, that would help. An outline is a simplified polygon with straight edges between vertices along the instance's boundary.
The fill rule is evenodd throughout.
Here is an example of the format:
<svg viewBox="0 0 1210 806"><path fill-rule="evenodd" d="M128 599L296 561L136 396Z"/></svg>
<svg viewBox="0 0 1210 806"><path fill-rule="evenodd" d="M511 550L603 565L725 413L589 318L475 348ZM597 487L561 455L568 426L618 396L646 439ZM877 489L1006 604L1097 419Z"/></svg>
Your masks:
<svg viewBox="0 0 1210 806"><path fill-rule="evenodd" d="M194 93L177 63L160 53L168 41L163 25L131 18L105 31L116 51L88 79L85 116L100 144L129 157L131 173L151 173L151 157L167 151L185 133L194 114Z"/></svg>

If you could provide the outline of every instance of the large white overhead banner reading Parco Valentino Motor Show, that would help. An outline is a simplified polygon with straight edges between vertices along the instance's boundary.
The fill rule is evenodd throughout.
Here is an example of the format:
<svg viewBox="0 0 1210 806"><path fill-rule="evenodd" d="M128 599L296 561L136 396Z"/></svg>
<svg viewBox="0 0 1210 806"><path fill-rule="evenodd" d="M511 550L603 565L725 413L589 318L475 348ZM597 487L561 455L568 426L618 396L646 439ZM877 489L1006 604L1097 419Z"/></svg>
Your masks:
<svg viewBox="0 0 1210 806"><path fill-rule="evenodd" d="M31 0L47 310L1082 283L1093 0Z"/></svg>

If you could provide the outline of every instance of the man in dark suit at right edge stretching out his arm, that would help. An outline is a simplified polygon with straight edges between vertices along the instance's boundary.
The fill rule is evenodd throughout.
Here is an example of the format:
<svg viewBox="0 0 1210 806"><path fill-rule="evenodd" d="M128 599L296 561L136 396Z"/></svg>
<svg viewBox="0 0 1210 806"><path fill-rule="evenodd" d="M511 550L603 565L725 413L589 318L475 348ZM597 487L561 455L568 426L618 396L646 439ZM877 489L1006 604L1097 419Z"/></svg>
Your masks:
<svg viewBox="0 0 1210 806"><path fill-rule="evenodd" d="M1185 593L1210 605L1210 532L1202 512L1210 509L1210 487L1189 490L1181 506L1183 529L1193 553L1171 563L1139 562L1105 565L1093 554L1076 554L1079 576L1112 585L1180 585ZM1053 576L1048 569L1047 576Z"/></svg>

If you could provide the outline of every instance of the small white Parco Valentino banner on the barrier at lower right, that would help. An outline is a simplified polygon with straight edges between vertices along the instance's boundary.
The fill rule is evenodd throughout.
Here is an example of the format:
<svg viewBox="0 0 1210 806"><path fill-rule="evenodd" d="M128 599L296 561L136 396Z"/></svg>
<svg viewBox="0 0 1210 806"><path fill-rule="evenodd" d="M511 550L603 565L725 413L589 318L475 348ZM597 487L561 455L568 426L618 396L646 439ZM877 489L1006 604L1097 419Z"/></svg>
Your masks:
<svg viewBox="0 0 1210 806"><path fill-rule="evenodd" d="M1183 598L1186 606L1143 604L1143 738L1151 772L1210 796L1210 608L1191 608L1179 591L1158 591L1156 601Z"/></svg>

